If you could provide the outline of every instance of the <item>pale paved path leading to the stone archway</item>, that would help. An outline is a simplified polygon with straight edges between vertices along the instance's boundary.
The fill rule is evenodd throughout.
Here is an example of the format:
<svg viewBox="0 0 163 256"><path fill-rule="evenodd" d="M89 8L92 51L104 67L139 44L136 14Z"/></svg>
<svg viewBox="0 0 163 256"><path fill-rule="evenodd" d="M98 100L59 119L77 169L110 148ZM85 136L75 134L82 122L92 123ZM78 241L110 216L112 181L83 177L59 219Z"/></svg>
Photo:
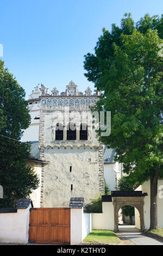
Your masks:
<svg viewBox="0 0 163 256"><path fill-rule="evenodd" d="M135 245L163 245L162 241L143 235L133 225L119 225L119 230L117 235L121 240L131 240Z"/></svg>

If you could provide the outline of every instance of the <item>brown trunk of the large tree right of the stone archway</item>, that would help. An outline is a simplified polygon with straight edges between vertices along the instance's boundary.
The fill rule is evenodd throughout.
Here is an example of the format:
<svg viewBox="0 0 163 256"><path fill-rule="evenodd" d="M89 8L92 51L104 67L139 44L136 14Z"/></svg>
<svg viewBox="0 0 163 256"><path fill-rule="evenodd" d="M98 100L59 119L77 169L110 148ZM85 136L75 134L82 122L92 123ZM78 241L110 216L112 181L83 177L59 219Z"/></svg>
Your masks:
<svg viewBox="0 0 163 256"><path fill-rule="evenodd" d="M158 177L159 171L151 177L151 208L150 208L150 228L158 229Z"/></svg>

